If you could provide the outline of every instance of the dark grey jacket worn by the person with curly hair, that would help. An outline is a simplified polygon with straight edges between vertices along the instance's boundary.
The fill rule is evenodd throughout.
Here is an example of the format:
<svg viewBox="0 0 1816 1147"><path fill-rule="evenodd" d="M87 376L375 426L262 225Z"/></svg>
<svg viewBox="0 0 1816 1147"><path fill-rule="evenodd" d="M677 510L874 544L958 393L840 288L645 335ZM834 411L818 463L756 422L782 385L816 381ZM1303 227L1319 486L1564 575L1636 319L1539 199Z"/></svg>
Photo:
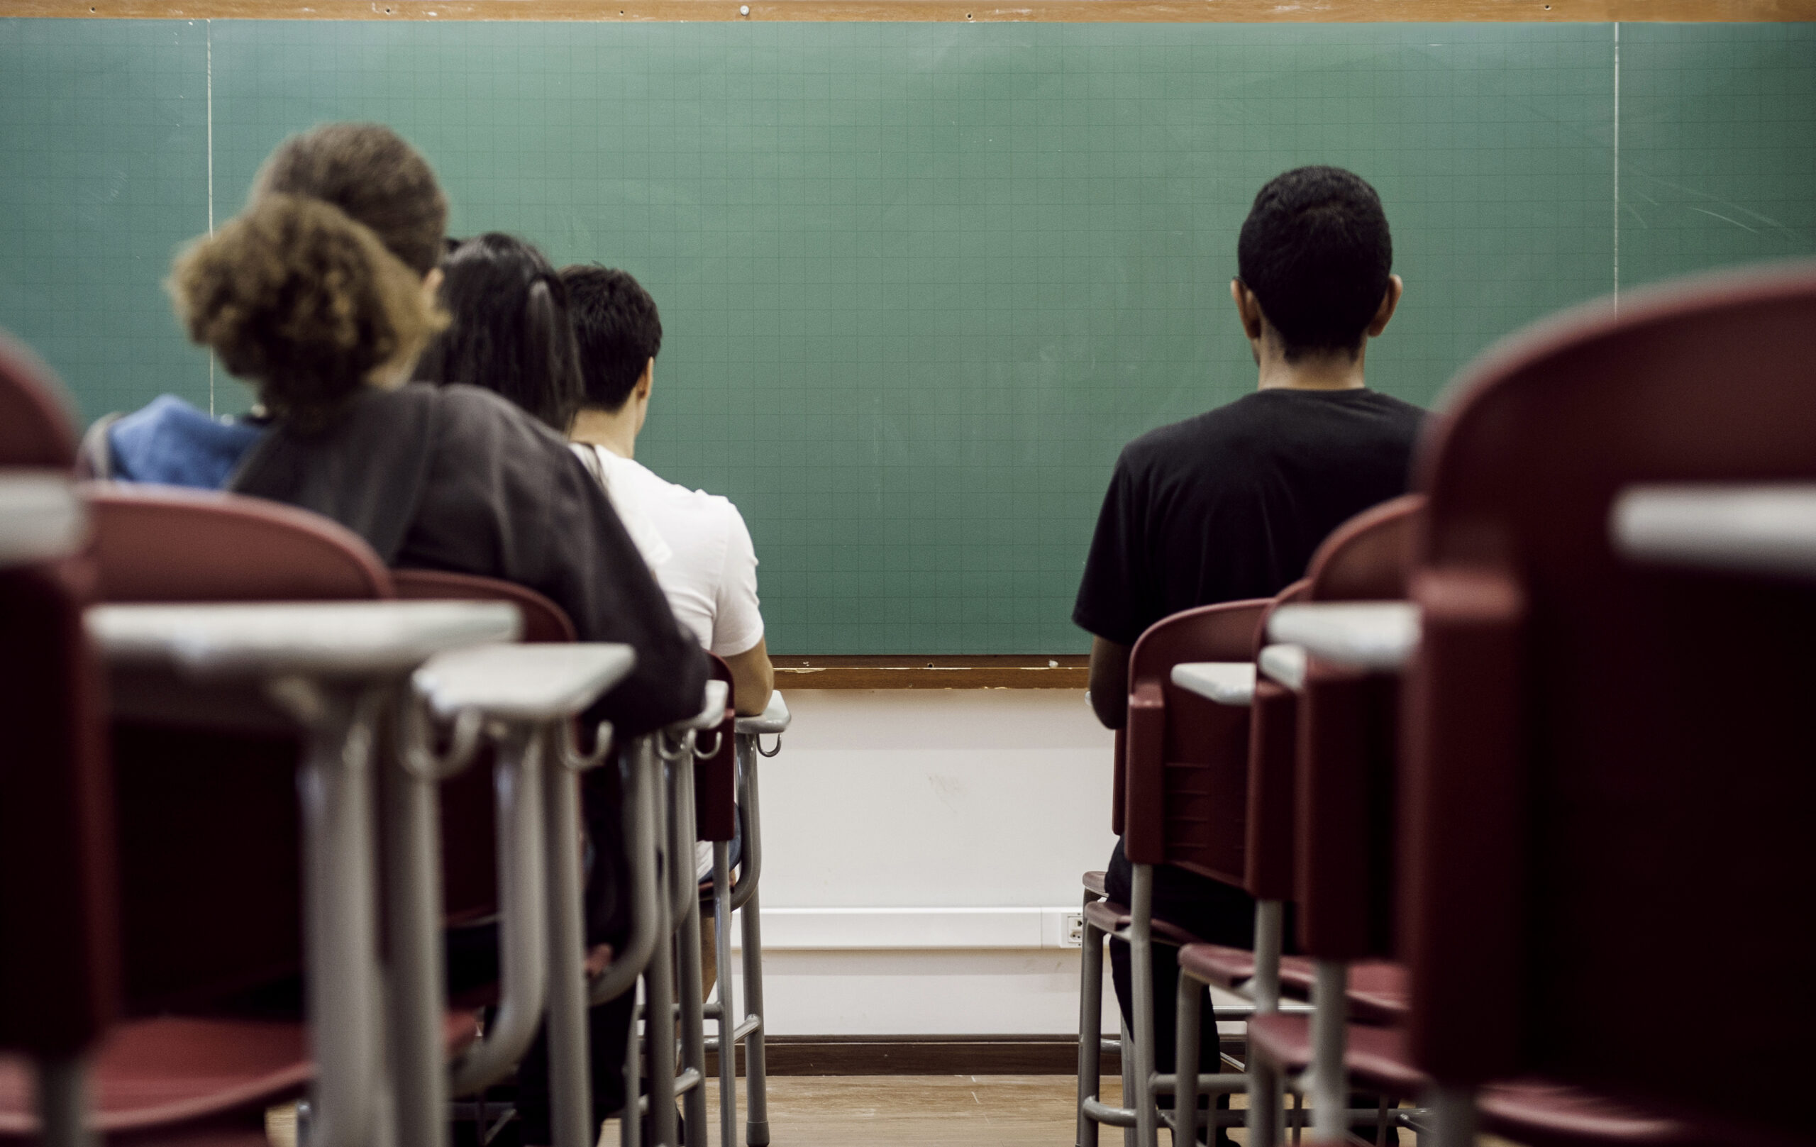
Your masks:
<svg viewBox="0 0 1816 1147"><path fill-rule="evenodd" d="M706 657L554 432L490 390L367 390L318 434L278 423L227 485L314 510L387 566L478 574L561 606L581 641L619 641L637 666L588 717L623 735L699 711Z"/></svg>

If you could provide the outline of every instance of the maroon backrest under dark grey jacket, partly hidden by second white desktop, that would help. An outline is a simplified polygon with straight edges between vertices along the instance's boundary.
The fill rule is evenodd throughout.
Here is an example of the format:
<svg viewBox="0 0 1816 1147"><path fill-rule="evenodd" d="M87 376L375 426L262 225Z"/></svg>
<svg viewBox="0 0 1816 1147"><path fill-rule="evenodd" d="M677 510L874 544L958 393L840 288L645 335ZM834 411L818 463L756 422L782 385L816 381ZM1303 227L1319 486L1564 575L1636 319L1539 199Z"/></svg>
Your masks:
<svg viewBox="0 0 1816 1147"><path fill-rule="evenodd" d="M574 641L574 623L536 590L496 577L447 570L392 570L398 597L410 601L508 601L523 613L523 641ZM498 911L498 808L492 748L441 782L441 911L447 922Z"/></svg>

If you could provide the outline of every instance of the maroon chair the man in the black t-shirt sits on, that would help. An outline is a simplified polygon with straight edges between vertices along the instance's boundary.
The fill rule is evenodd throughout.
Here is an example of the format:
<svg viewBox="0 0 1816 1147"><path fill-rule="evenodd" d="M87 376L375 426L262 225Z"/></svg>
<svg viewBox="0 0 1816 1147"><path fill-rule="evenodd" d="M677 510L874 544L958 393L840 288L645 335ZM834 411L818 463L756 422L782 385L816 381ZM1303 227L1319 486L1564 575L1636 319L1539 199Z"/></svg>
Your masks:
<svg viewBox="0 0 1816 1147"><path fill-rule="evenodd" d="M1079 1142L1093 1143L1100 1122L1135 1120L1151 1143L1153 1100L1151 978L1135 976L1135 1031L1130 1033L1133 1093L1120 1109L1099 1102L1102 946L1130 942L1131 962L1148 967L1150 944L1184 946L1191 933L1151 915L1144 897L1155 864L1175 864L1229 884L1242 882L1248 784L1248 711L1180 690L1175 664L1246 661L1266 601L1200 606L1157 621L1130 652L1128 726L1119 737L1122 766L1122 848L1135 869L1135 904L1104 898L1102 877L1086 875L1084 951L1079 969ZM1095 886L1095 887L1093 887ZM1128 1071L1124 1071L1128 1076Z"/></svg>

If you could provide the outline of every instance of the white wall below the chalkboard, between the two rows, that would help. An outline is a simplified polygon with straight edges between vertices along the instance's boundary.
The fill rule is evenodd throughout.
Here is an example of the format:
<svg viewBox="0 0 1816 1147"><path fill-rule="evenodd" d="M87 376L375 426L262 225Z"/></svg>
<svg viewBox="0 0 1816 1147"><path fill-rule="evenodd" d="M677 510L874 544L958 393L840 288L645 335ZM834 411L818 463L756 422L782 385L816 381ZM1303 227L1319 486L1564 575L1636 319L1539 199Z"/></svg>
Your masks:
<svg viewBox="0 0 1816 1147"><path fill-rule="evenodd" d="M759 773L770 1031L1077 1031L1062 913L1115 844L1113 737L1084 693L785 693Z"/></svg>

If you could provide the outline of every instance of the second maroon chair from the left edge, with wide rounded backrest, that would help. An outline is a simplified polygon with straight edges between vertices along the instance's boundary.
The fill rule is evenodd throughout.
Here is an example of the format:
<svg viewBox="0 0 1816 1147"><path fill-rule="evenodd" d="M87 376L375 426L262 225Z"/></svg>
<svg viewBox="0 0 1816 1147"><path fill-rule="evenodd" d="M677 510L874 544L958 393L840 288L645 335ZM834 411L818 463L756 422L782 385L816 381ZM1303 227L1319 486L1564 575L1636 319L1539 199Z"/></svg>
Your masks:
<svg viewBox="0 0 1816 1147"><path fill-rule="evenodd" d="M87 486L100 599L390 597L376 555L341 526L274 503L154 486ZM263 1143L263 1109L312 1076L307 1025L214 1005L301 964L298 739L116 715L125 1009L94 1060L93 1127L133 1143ZM187 1015L163 1015L183 1011ZM449 1018L458 1047L470 1013ZM35 1134L0 1076L0 1140Z"/></svg>

